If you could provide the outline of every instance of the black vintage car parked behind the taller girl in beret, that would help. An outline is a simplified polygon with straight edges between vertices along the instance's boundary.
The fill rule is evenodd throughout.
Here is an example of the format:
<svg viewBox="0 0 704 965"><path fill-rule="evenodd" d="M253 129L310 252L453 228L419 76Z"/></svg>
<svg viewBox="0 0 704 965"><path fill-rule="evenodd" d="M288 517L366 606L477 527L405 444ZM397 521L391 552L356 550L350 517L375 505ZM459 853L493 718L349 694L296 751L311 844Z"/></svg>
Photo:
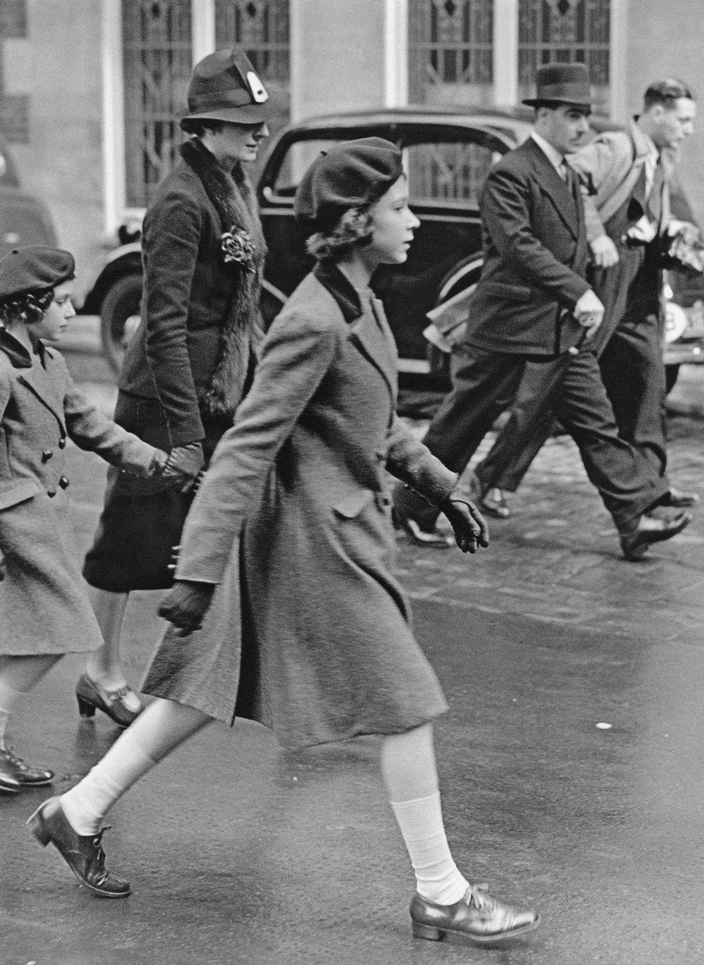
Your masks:
<svg viewBox="0 0 704 965"><path fill-rule="evenodd" d="M382 266L373 287L396 338L402 386L445 390L447 355L423 334L428 313L476 283L482 267L479 193L501 154L528 136L531 116L521 108L467 113L423 105L316 117L284 128L272 141L257 181L269 251L262 299L266 322L312 265L293 213L303 171L336 142L373 135L394 141L404 151L410 204L420 228L408 261ZM597 120L596 126L612 125ZM101 316L105 354L116 368L138 324L141 294L139 225L124 226L122 236L126 243L111 253L83 307ZM683 338L689 338L687 331L667 346L667 352L678 352L673 364L704 361L694 352L699 343L685 344Z"/></svg>

